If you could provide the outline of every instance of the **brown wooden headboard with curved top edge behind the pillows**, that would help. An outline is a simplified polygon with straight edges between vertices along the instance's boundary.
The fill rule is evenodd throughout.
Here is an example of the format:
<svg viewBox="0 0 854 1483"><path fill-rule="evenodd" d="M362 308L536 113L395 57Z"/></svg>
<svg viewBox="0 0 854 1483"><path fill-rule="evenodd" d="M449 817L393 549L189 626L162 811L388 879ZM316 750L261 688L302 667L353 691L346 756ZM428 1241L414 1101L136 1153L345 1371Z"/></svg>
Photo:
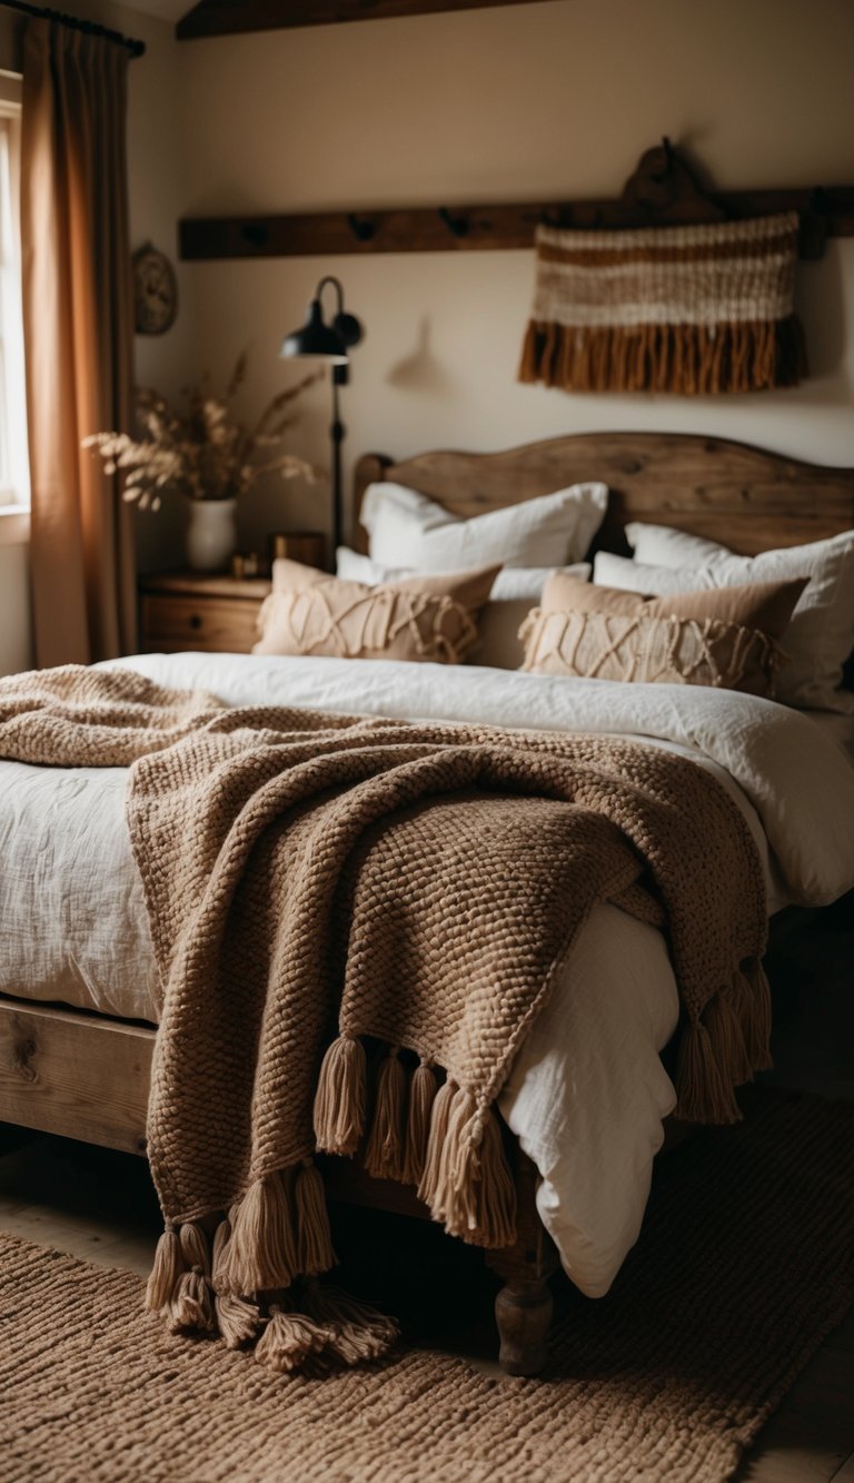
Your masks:
<svg viewBox="0 0 854 1483"><path fill-rule="evenodd" d="M420 489L464 518L602 479L611 497L596 546L612 552L629 549L627 521L673 525L744 556L854 526L854 469L694 433L572 433L498 454L430 452L397 464L366 454L354 476L359 550L366 550L362 497L384 479Z"/></svg>

